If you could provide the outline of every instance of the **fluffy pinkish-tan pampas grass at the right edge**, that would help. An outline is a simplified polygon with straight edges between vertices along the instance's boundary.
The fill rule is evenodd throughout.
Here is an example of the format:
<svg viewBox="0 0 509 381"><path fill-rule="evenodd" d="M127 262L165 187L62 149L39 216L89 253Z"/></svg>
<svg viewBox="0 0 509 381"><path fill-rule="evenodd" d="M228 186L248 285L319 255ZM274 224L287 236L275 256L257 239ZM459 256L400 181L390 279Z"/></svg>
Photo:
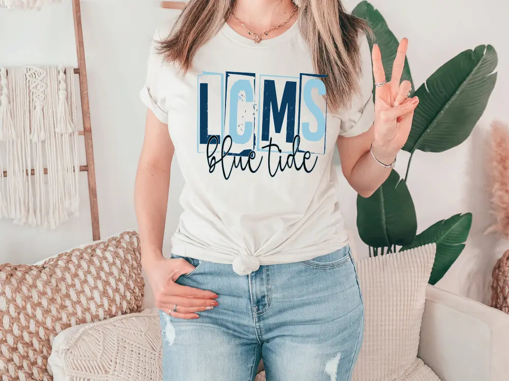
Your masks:
<svg viewBox="0 0 509 381"><path fill-rule="evenodd" d="M491 212L496 218L488 231L509 240L509 126L499 120L491 123L488 172Z"/></svg>

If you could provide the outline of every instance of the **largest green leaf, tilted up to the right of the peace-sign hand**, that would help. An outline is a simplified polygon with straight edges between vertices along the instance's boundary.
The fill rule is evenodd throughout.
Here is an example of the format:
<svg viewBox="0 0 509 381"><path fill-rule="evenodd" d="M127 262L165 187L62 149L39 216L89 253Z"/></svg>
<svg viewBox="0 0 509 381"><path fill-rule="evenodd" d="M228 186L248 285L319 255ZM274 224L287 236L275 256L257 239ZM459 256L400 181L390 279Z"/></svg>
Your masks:
<svg viewBox="0 0 509 381"><path fill-rule="evenodd" d="M495 49L479 45L433 73L415 91L420 102L403 149L443 152L462 143L486 108L497 78L496 65Z"/></svg>

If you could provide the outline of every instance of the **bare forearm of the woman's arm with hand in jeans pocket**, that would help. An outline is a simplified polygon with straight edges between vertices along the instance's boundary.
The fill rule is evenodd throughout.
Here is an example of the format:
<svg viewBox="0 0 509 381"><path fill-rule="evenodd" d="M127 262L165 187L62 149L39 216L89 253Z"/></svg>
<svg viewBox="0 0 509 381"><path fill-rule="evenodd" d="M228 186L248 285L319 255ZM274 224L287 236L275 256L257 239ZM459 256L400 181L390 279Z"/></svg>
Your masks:
<svg viewBox="0 0 509 381"><path fill-rule="evenodd" d="M170 169L140 161L136 172L134 204L143 262L162 258L168 206Z"/></svg>

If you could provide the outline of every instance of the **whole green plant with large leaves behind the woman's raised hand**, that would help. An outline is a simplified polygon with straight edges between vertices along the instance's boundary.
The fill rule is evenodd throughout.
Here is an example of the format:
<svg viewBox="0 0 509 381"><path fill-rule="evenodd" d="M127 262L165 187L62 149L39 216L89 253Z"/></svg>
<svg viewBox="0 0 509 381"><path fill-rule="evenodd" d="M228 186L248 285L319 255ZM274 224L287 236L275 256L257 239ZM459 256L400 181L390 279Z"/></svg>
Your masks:
<svg viewBox="0 0 509 381"><path fill-rule="evenodd" d="M359 3L352 14L370 24L382 51L385 73L390 74L398 39L369 2ZM375 41L369 41L370 48ZM413 93L419 98L419 105L403 147L410 153L405 178L400 178L392 170L371 197L357 196L357 228L360 238L369 246L370 256L436 243L435 263L429 280L435 284L462 252L472 225L472 214L456 214L442 219L416 235L415 207L406 181L416 150L443 152L468 138L495 86L496 66L497 53L493 46L479 45L444 63ZM412 82L413 88L407 59L401 80L405 79Z"/></svg>

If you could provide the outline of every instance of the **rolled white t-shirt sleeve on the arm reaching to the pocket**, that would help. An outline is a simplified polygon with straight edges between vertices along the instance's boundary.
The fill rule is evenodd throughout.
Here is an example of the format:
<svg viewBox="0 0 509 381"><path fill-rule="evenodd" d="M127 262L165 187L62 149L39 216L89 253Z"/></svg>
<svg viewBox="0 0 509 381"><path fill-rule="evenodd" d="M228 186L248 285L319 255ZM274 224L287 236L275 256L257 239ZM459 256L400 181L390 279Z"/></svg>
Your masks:
<svg viewBox="0 0 509 381"><path fill-rule="evenodd" d="M159 29L156 29L147 60L147 76L139 97L154 115L163 123L168 123L167 88L163 80L163 57L156 52L156 44L160 41Z"/></svg>

